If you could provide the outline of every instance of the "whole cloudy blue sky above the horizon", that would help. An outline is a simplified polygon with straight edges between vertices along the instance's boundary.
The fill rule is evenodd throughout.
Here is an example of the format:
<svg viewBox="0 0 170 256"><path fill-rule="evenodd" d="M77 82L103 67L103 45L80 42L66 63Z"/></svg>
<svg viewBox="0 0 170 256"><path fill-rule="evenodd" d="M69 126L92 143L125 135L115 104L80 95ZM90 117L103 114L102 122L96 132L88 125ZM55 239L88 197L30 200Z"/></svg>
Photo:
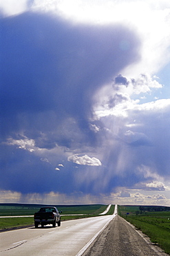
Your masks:
<svg viewBox="0 0 170 256"><path fill-rule="evenodd" d="M0 14L0 203L170 206L169 0Z"/></svg>

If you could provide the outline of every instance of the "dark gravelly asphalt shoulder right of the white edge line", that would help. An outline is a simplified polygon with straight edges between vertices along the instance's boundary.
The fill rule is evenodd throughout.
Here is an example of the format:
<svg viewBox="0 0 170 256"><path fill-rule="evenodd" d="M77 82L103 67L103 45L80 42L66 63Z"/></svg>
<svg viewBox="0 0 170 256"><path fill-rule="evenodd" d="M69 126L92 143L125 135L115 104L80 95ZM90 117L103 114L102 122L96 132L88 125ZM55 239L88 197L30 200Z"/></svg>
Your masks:
<svg viewBox="0 0 170 256"><path fill-rule="evenodd" d="M149 237L137 232L125 219L116 216L83 256L164 256Z"/></svg>

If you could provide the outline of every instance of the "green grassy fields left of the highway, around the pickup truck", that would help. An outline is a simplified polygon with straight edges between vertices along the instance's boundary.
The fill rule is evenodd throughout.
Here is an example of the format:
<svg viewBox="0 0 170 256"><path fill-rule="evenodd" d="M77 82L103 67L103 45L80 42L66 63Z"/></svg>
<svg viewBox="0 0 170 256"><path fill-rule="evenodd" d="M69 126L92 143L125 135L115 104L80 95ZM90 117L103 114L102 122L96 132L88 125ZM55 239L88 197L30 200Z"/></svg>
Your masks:
<svg viewBox="0 0 170 256"><path fill-rule="evenodd" d="M28 205L28 204L8 204L0 203L0 216L8 216L8 218L0 218L0 231L8 230L10 228L19 228L25 226L33 226L33 217L12 217L12 216L28 216L34 215L34 212L39 211L43 205ZM58 208L61 213L61 221L71 219L83 219L87 217L96 217L98 214L104 212L107 205L53 205ZM111 205L107 214L114 213L114 205ZM74 214L67 216L67 214ZM83 214L83 215L78 215ZM10 218L11 216L11 218Z"/></svg>

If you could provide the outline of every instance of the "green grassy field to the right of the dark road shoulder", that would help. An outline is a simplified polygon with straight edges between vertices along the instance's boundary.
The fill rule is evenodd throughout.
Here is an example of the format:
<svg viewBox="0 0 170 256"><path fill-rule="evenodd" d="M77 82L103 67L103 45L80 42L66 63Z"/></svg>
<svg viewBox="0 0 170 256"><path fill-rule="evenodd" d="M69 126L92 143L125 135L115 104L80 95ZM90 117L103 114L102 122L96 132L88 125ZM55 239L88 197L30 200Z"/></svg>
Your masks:
<svg viewBox="0 0 170 256"><path fill-rule="evenodd" d="M118 212L153 244L170 255L170 208L163 206L118 206Z"/></svg>

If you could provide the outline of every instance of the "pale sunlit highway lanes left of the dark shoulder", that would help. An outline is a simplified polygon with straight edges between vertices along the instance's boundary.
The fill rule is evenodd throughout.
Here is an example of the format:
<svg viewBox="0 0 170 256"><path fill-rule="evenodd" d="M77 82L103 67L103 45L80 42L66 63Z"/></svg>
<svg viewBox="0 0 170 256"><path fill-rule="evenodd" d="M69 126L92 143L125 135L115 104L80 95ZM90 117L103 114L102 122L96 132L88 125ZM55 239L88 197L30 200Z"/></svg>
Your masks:
<svg viewBox="0 0 170 256"><path fill-rule="evenodd" d="M0 233L0 255L81 256L113 215L61 222L61 227L23 228Z"/></svg>

